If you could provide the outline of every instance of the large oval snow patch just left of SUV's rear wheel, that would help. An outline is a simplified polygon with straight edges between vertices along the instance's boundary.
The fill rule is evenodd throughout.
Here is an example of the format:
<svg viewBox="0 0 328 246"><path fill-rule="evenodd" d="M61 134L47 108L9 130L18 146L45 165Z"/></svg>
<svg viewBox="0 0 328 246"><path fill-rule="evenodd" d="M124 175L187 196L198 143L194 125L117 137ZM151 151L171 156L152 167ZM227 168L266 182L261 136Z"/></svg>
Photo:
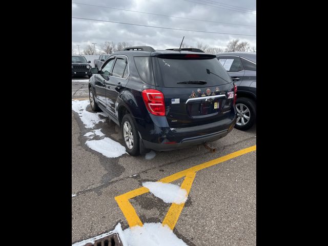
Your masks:
<svg viewBox="0 0 328 246"><path fill-rule="evenodd" d="M105 137L100 140L88 140L86 141L86 145L90 149L109 158L118 157L126 153L124 146L121 146L118 142L110 139L109 137Z"/></svg>

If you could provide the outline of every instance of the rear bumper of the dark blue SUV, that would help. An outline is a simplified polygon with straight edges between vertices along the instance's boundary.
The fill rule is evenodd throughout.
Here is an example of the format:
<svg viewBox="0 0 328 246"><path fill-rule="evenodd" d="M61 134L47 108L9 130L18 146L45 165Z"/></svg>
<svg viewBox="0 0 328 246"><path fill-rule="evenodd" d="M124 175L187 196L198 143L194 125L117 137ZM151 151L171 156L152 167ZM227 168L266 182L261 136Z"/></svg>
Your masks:
<svg viewBox="0 0 328 246"><path fill-rule="evenodd" d="M236 115L220 121L189 128L167 128L157 127L156 131L143 131L140 140L146 149L155 151L170 151L201 145L205 142L218 140L234 128ZM156 132L154 134L154 132ZM146 134L145 134L146 133ZM148 139L147 139L148 137Z"/></svg>

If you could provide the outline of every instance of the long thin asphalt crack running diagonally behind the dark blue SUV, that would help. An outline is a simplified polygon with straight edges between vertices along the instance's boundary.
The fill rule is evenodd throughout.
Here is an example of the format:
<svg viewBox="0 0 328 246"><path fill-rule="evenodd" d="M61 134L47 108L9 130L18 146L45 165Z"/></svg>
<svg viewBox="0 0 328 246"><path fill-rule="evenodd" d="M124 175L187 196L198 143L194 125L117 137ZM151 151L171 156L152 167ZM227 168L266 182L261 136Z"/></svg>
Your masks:
<svg viewBox="0 0 328 246"><path fill-rule="evenodd" d="M223 146L223 147L221 147L221 148L218 148L217 150L224 150L224 149L226 149L227 147L235 146L235 145L237 145L237 144L240 144L241 142L245 142L245 141L248 141L248 140L253 139L253 138L254 138L254 136L249 137L249 138L245 138L245 139L243 139L243 140L240 140L240 141L235 142L234 144L231 144L231 145L227 145L227 146ZM143 174L143 173L145 173L145 172L148 172L148 171L151 171L151 170L154 170L154 169L162 168L162 167L165 167L165 166L170 166L170 165L172 165L173 163L176 163L177 161L186 160L186 159L189 159L189 158L192 158L192 157L202 156L203 154L204 154L204 153L199 153L199 154L197 154L197 155L187 156L187 157L185 157L185 158L181 158L181 159L179 159L179 160L170 161L170 162L165 163L165 164L163 164L163 165L161 165L161 166L158 166L158 167L155 167L155 168L149 168L149 169L146 169L146 170L144 170L144 171L141 171L141 172L137 173L137 175ZM205 154L211 154L211 153L208 152L208 153L205 153ZM125 179L127 179L127 178L131 178L131 177L130 177L130 176L122 177L122 178L117 179L117 180L109 181L108 183L103 183L102 185L97 186L97 187L94 187L94 188L92 188L92 189L86 189L86 190L83 190L83 191L79 191L79 192L76 193L76 196L78 196L79 194L86 194L86 193L93 192L93 191L95 191L96 193L98 193L100 190L103 190L104 188L107 188L108 186L112 185L113 183L116 183L116 182L118 182L118 181L125 180ZM135 178L135 177L132 177L132 178Z"/></svg>

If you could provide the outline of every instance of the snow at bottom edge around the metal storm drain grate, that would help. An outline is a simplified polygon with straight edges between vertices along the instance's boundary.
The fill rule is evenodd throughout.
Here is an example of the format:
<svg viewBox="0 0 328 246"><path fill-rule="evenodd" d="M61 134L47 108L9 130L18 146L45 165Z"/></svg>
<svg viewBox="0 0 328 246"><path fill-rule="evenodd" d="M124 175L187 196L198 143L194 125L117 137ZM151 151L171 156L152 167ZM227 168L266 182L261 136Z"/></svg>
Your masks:
<svg viewBox="0 0 328 246"><path fill-rule="evenodd" d="M178 238L168 226L161 223L145 223L143 227L135 226L124 231L118 223L111 232L74 243L72 246L83 246L88 242L106 237L113 233L118 233L124 246L188 246L182 239Z"/></svg>

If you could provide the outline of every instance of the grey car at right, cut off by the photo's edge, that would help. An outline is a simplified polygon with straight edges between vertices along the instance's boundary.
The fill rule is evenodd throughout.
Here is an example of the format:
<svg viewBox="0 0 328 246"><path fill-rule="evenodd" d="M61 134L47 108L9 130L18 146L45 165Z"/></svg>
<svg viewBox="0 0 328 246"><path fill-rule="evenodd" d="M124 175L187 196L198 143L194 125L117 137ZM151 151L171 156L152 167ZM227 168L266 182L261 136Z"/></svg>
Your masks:
<svg viewBox="0 0 328 246"><path fill-rule="evenodd" d="M256 53L220 53L217 59L238 88L235 128L247 130L256 121Z"/></svg>

